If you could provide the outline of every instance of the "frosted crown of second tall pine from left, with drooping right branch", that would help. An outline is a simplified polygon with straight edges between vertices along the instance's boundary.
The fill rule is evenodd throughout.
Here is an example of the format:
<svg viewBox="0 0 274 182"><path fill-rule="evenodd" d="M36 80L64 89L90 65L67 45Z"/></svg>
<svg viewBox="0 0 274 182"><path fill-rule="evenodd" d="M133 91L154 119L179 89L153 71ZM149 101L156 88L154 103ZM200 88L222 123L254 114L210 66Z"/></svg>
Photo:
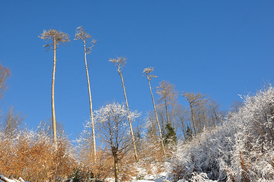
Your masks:
<svg viewBox="0 0 274 182"><path fill-rule="evenodd" d="M91 38L91 35L89 33L87 33L85 29L83 29L83 26L77 27L75 31L76 31L76 33L75 33L74 40L81 39L81 40L83 40L84 44L86 44L88 42L88 39ZM90 41L91 46L86 47L86 54L90 54L90 52L92 51L92 48L96 44L96 42L97 42L97 40L91 39L91 41Z"/></svg>

